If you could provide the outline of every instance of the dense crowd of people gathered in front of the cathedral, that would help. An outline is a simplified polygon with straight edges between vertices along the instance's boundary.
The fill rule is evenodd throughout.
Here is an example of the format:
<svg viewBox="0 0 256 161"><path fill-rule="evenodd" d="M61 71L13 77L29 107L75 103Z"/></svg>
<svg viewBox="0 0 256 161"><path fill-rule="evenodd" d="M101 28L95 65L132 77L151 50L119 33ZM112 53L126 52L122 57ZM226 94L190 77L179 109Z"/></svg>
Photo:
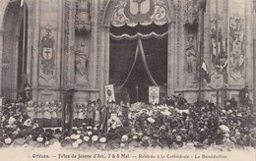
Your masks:
<svg viewBox="0 0 256 161"><path fill-rule="evenodd" d="M220 109L209 101L187 103L180 94L165 97L158 105L101 105L98 99L75 102L72 109L73 129L62 132L60 102L3 105L0 146L101 150L256 147L253 106L239 106L234 98Z"/></svg>

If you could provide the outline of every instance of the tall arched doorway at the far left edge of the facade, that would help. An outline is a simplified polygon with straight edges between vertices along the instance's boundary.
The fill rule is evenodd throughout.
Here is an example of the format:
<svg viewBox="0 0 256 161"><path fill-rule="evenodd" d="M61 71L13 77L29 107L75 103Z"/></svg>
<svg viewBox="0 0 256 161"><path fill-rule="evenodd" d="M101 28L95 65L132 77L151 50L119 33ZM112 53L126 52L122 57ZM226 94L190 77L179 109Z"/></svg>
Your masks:
<svg viewBox="0 0 256 161"><path fill-rule="evenodd" d="M2 96L7 101L24 97L27 83L28 8L10 2L3 20Z"/></svg>

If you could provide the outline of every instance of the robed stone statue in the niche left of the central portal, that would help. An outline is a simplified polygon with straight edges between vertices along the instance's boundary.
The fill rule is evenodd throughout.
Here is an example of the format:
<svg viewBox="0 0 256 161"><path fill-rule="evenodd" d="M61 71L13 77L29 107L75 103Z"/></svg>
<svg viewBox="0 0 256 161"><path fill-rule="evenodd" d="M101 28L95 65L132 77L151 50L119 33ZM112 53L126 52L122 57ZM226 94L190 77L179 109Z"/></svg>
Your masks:
<svg viewBox="0 0 256 161"><path fill-rule="evenodd" d="M88 82L88 64L89 53L88 46L81 42L75 52L75 64L76 64L76 82L87 83Z"/></svg>

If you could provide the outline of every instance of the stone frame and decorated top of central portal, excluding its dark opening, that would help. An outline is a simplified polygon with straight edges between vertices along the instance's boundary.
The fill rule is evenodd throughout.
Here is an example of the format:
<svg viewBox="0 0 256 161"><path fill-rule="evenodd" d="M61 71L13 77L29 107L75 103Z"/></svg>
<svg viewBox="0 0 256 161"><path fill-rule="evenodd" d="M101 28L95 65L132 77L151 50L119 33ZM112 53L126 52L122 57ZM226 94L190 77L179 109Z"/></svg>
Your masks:
<svg viewBox="0 0 256 161"><path fill-rule="evenodd" d="M176 16L175 16L175 9L174 4L171 1L166 0L160 0L160 1L154 1L154 0L145 0L142 1L111 1L108 0L105 3L105 7L102 13L102 19L101 19L101 50L100 50L100 98L103 98L103 85L109 83L109 33L110 33L110 27L111 25L115 26L122 26L124 24L130 24L130 26L136 26L136 24L152 24L153 22L155 24L168 24L168 43L167 43L167 93L171 94L174 93L174 59L171 59L171 56L174 55L174 44L175 44L175 38L174 38L174 31L175 31L175 22L176 22ZM159 2L159 4L156 3ZM145 6L143 6L145 5ZM118 6L118 7L117 7ZM121 10L117 11L118 8L120 9L120 6L122 6ZM133 6L133 8L136 8L135 10L132 10L130 6ZM141 7L142 6L142 7ZM152 10L152 7L155 9L159 7L159 11L162 11L164 14L162 19L157 20L154 18L154 14L156 14L156 11L154 12ZM146 9L145 9L146 8ZM119 20L121 21L115 21L118 19L118 13L122 12L122 17L119 17ZM158 13L159 14L159 13ZM147 17L148 16L148 17ZM152 17L151 17L152 16ZM150 19L147 19L150 18Z"/></svg>

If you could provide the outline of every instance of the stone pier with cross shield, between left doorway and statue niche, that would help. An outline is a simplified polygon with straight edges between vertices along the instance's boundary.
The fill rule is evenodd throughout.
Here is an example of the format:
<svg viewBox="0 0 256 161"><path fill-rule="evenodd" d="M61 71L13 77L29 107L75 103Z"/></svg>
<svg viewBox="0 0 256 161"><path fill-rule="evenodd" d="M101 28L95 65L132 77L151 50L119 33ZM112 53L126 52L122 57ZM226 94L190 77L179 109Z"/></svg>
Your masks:
<svg viewBox="0 0 256 161"><path fill-rule="evenodd" d="M61 57L63 1L34 2L34 52L32 61L32 96L38 101L59 100L61 90Z"/></svg>

